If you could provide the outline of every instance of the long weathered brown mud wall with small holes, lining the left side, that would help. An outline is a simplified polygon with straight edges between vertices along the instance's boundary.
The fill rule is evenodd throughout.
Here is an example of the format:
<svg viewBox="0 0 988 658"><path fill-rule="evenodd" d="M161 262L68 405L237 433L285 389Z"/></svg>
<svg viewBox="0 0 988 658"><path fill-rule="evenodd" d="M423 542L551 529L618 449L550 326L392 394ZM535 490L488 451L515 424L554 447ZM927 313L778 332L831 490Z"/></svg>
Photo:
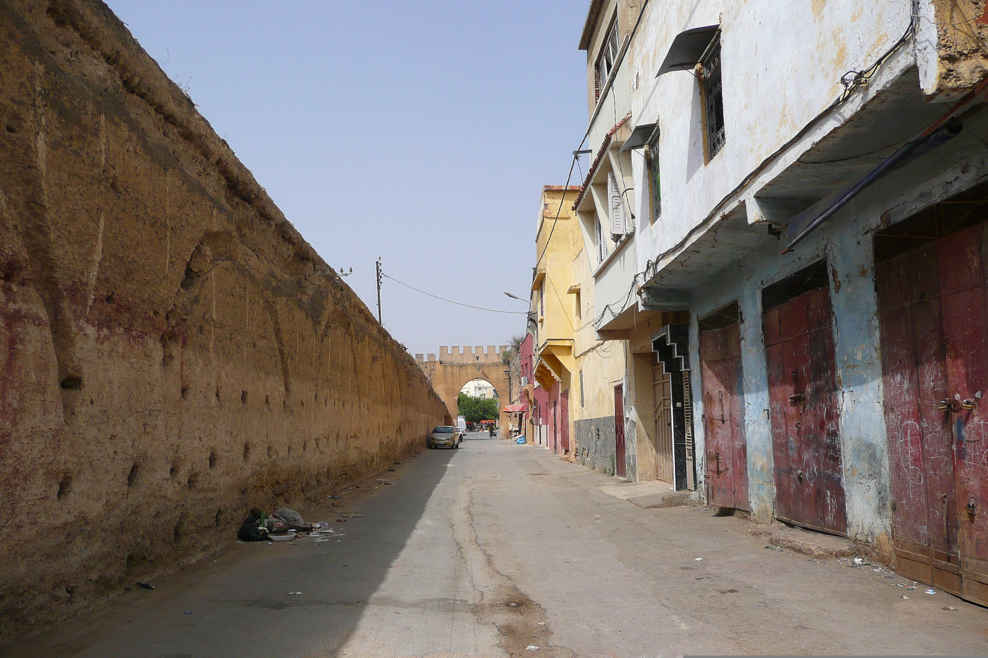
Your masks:
<svg viewBox="0 0 988 658"><path fill-rule="evenodd" d="M445 415L98 0L0 0L0 277L4 637Z"/></svg>

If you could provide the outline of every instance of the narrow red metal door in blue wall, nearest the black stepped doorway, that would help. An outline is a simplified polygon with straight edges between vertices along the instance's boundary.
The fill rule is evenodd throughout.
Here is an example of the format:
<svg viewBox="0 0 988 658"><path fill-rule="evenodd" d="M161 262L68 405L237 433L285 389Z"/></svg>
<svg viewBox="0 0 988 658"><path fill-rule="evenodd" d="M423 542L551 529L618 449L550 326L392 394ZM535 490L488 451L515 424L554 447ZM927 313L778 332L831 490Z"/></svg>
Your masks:
<svg viewBox="0 0 988 658"><path fill-rule="evenodd" d="M700 378L709 504L751 511L737 322L700 332Z"/></svg>

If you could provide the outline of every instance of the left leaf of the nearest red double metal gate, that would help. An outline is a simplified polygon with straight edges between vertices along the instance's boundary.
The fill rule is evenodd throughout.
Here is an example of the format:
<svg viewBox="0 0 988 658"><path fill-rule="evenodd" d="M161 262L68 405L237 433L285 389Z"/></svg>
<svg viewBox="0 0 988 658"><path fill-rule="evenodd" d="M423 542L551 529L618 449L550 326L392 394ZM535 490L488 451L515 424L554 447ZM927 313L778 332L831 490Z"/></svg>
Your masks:
<svg viewBox="0 0 988 658"><path fill-rule="evenodd" d="M896 571L960 594L937 245L875 264Z"/></svg>

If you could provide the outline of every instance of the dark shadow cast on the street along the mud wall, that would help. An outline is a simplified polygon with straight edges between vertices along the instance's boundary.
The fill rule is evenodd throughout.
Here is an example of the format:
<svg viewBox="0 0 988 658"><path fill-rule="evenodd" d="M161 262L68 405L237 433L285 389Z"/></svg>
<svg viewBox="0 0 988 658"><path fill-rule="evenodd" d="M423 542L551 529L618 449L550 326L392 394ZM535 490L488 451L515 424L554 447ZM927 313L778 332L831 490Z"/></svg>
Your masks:
<svg viewBox="0 0 988 658"><path fill-rule="evenodd" d="M97 614L0 648L0 656L335 655L459 452L423 448L395 473L380 475L394 478L393 485L376 483L371 495L353 503L361 492L344 491L338 502L345 512L363 518L337 523L328 501L299 510L306 520L329 521L339 538L235 544L216 560L162 579L154 591L125 593Z"/></svg>

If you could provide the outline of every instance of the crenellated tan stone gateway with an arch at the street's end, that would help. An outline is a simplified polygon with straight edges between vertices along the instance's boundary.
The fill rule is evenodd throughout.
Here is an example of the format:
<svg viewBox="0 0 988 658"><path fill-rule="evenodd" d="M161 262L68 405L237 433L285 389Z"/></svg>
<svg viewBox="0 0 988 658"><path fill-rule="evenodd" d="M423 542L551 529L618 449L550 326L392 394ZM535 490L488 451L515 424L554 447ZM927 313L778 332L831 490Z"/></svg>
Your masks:
<svg viewBox="0 0 988 658"><path fill-rule="evenodd" d="M444 345L439 348L438 359L435 354L430 354L428 359L424 358L424 354L416 354L415 363L429 378L433 390L443 399L443 402L446 402L446 407L450 410L451 420L454 421L459 411L456 404L459 390L470 380L487 380L497 391L501 404L509 402L508 374L506 372L508 366L501 360L502 354L507 353L507 351L507 345L501 345L497 349L494 348L494 345L488 345L486 351L484 351L483 345L472 348L466 346L462 350L460 350L459 345L452 347Z"/></svg>

